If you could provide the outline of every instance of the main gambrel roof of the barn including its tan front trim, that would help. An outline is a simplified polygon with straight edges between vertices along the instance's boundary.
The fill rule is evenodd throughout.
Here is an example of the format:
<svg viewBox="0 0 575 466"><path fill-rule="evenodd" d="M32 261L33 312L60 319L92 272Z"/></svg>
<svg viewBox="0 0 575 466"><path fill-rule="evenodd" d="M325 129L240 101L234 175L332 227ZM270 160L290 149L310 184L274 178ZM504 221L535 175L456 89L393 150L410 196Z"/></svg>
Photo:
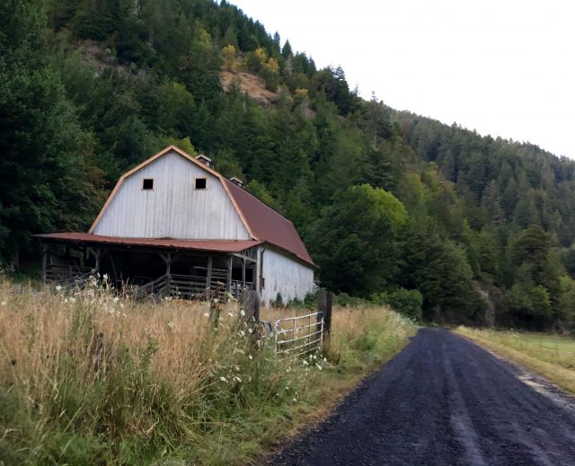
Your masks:
<svg viewBox="0 0 575 466"><path fill-rule="evenodd" d="M268 242L273 244L279 249L286 251L289 254L296 256L296 258L303 260L307 264L315 267L314 261L305 249L304 242L302 242L301 238L297 234L294 224L292 224L287 218L280 215L271 207L265 205L263 202L261 202L260 199L252 196L252 194L249 192L235 185L232 181L227 180L226 177L209 168L206 164L199 162L190 154L186 154L175 145L166 147L163 151L155 154L143 163L140 163L137 165L137 167L127 171L119 178L118 183L112 190L108 200L106 200L106 203L102 207L102 211L96 217L96 220L90 228L89 233L94 232L96 225L102 219L102 215L110 206L112 199L114 196L116 196L116 193L119 191L119 188L121 187L124 180L144 168L149 163L153 163L163 155L170 153L181 155L181 157L184 157L190 161L190 163L194 163L202 170L208 171L208 173L214 175L217 180L222 183L227 196L230 198L234 209L240 216L240 219L242 220L245 229L250 234L252 241Z"/></svg>

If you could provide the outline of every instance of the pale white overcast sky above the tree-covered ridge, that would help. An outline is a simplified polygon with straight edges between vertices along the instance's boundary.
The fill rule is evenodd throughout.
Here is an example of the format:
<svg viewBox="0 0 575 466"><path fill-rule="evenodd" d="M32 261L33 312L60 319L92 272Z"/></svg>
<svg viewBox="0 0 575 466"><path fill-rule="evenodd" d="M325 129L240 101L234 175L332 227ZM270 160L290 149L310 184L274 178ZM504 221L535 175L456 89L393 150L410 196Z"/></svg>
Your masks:
<svg viewBox="0 0 575 466"><path fill-rule="evenodd" d="M575 2L232 3L367 99L575 158Z"/></svg>

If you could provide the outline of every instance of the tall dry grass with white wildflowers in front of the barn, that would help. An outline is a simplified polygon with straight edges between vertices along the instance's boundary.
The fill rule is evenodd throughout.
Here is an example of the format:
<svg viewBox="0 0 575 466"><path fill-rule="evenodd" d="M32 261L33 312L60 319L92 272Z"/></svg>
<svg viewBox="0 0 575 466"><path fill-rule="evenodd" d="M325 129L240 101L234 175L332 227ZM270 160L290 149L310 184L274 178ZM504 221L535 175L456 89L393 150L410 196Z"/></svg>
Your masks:
<svg viewBox="0 0 575 466"><path fill-rule="evenodd" d="M325 355L283 360L240 314L226 304L214 325L208 303L0 279L0 462L249 462L322 418L416 330L385 308L335 309Z"/></svg>

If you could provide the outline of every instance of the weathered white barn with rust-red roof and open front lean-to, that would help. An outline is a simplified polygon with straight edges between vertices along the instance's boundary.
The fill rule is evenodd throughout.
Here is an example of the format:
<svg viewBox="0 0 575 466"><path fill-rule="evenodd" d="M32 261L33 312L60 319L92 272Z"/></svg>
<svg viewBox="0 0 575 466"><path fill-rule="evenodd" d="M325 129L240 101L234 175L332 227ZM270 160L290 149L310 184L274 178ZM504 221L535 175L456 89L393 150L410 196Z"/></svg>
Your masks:
<svg viewBox="0 0 575 466"><path fill-rule="evenodd" d="M46 281L96 271L137 295L250 289L267 303L314 291L316 266L294 225L207 156L173 145L120 177L88 233L36 236Z"/></svg>

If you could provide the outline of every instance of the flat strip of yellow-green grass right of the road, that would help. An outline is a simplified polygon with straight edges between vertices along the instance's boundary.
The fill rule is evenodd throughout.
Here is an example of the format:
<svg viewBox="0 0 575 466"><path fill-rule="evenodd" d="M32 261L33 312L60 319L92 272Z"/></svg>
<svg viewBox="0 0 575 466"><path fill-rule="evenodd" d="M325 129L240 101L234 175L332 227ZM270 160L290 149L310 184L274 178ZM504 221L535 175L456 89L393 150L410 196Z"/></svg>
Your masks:
<svg viewBox="0 0 575 466"><path fill-rule="evenodd" d="M466 327L456 332L575 393L575 338Z"/></svg>

